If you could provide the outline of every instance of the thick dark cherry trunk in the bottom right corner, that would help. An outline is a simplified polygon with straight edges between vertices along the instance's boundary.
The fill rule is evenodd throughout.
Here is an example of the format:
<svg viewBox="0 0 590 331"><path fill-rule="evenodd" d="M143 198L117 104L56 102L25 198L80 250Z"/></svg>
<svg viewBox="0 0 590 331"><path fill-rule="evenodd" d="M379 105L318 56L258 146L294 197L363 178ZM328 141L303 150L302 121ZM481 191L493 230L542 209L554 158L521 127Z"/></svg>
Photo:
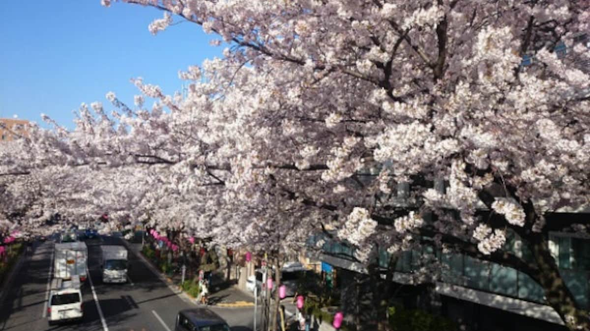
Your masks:
<svg viewBox="0 0 590 331"><path fill-rule="evenodd" d="M529 236L533 257L539 267L534 277L545 290L545 300L559 314L570 330L590 331L588 311L575 302L572 292L563 282L555 259L549 251L548 240L542 234Z"/></svg>

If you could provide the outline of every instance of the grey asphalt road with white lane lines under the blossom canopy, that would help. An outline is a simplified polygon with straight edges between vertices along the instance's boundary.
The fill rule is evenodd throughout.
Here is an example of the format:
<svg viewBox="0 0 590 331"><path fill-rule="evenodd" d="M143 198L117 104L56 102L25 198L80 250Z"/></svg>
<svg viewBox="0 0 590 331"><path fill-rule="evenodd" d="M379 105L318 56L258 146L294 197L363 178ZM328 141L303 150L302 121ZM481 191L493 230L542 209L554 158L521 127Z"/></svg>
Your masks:
<svg viewBox="0 0 590 331"><path fill-rule="evenodd" d="M104 237L87 240L90 280L84 284L82 323L49 326L47 309L48 273L53 241L35 247L17 275L14 286L0 311L0 330L97 330L97 331L171 331L176 313L195 307L176 296L137 256L130 251L129 280L125 284L103 284L100 277L100 244L117 244L120 239ZM93 296L99 303L99 307ZM252 328L253 307L212 307L227 320L232 331Z"/></svg>

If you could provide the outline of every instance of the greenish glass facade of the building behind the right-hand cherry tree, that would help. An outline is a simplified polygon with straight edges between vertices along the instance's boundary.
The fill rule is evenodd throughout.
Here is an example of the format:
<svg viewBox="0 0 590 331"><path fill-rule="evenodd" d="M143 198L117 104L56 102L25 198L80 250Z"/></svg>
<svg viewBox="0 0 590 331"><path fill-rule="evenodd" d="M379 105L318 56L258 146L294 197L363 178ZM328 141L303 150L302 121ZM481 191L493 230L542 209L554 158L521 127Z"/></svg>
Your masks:
<svg viewBox="0 0 590 331"><path fill-rule="evenodd" d="M315 244L321 237L313 236L309 244ZM324 238L324 240L326 240ZM590 240L577 239L554 234L550 238L550 249L558 262L559 272L572 291L576 301L584 309L590 308ZM523 248L519 240L508 238L507 249L525 260L531 259L530 252ZM324 253L354 260L354 249L345 243L326 240ZM379 249L379 266L386 268L389 253ZM532 302L543 303L543 289L527 274L497 263L473 259L464 254L442 253L432 251L432 247L423 246L422 250L402 252L396 262L395 270L412 273L419 268L425 254L435 256L442 265L441 282L469 287L484 292L501 294Z"/></svg>

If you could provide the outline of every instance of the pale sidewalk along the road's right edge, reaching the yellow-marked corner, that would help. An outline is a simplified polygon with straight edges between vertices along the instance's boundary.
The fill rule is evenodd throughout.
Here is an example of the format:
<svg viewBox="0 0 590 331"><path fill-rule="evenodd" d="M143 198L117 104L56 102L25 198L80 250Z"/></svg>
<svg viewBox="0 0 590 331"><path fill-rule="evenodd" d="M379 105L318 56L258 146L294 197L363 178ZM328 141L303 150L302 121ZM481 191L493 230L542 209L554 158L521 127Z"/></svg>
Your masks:
<svg viewBox="0 0 590 331"><path fill-rule="evenodd" d="M127 240L123 240L127 249L132 251L140 260L143 262L148 263L150 269L153 272L160 276L160 279L165 280L168 287L171 287L174 293L179 294L182 293L181 289L181 277L180 273L172 274L172 276L168 274L163 274L155 264L147 259L142 254L142 244L140 243L129 243ZM189 279L185 279L187 281ZM224 279L219 279L219 277L212 277L211 279L211 286L209 286L209 306L218 306L218 307L254 307L254 296L248 294L235 286L232 283L225 282ZM195 303L196 299L194 297L189 296L186 293L182 293L184 296L189 298L191 302Z"/></svg>

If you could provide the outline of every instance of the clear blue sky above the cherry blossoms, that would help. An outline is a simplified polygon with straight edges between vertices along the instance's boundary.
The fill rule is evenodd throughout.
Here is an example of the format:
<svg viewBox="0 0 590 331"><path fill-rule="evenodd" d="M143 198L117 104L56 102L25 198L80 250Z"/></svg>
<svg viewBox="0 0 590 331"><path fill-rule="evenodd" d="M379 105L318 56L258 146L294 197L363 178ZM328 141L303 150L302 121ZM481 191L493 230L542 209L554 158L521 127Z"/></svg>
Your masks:
<svg viewBox="0 0 590 331"><path fill-rule="evenodd" d="M73 128L73 110L81 102L112 105L113 91L133 104L139 91L130 78L180 90L178 71L221 57L196 24L173 25L158 35L148 25L162 12L138 5L100 0L8 1L0 20L0 117L36 121L40 114ZM175 21L177 18L175 18ZM151 104L150 104L151 105Z"/></svg>

